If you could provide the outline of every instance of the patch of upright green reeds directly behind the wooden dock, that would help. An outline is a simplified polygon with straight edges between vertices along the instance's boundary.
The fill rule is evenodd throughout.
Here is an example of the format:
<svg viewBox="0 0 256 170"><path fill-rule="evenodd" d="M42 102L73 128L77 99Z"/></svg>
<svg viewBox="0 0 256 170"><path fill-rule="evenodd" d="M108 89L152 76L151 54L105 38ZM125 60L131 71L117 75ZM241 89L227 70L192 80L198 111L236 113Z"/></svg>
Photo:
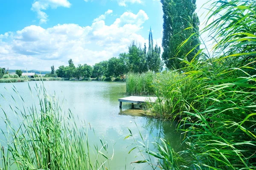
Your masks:
<svg viewBox="0 0 256 170"><path fill-rule="evenodd" d="M151 95L154 94L151 82L154 79L153 72L143 74L129 73L126 76L126 93L128 95Z"/></svg>

